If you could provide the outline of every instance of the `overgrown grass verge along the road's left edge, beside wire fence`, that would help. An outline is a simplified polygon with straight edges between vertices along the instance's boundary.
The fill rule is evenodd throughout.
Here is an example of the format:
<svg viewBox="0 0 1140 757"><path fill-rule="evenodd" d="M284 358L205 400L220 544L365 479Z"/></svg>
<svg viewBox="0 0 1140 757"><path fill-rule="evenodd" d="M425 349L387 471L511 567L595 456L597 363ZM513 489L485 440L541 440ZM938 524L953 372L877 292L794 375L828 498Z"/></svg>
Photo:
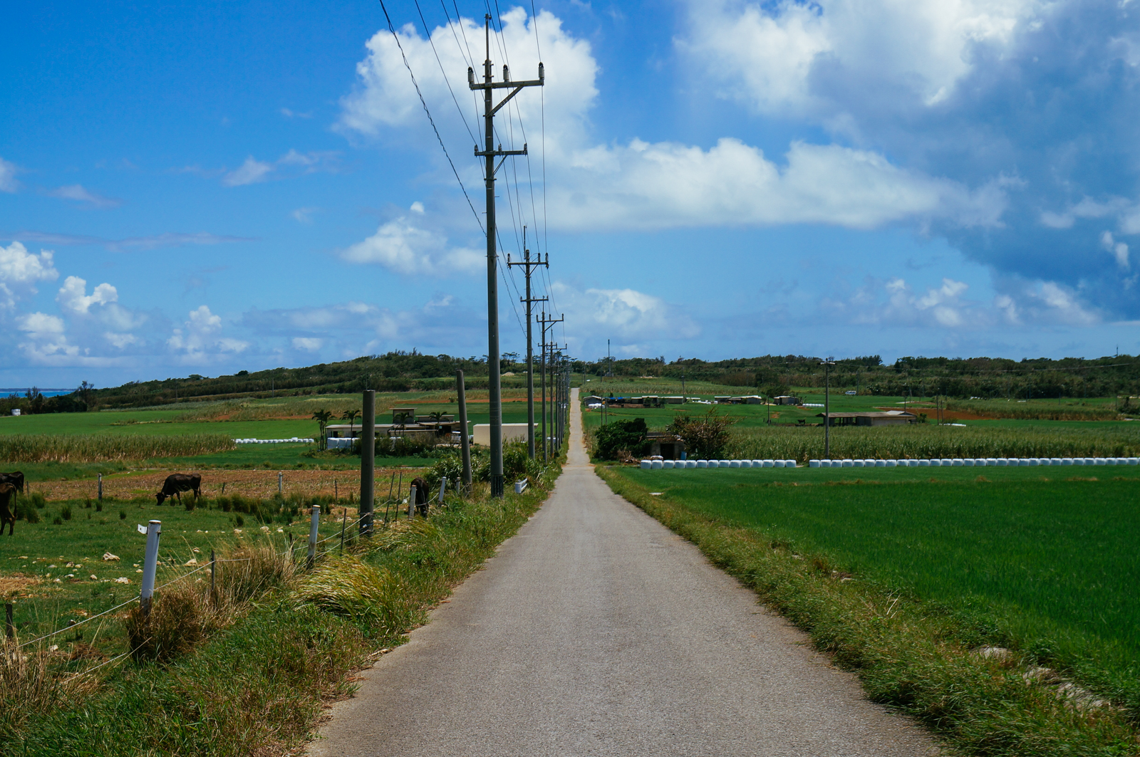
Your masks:
<svg viewBox="0 0 1140 757"><path fill-rule="evenodd" d="M559 470L522 495L491 500L487 485L477 485L474 496L449 497L426 521L377 523L375 537L255 597L197 650L165 664L108 666L90 692L27 713L18 728L0 732L0 755L292 752L321 705L353 691L348 674L424 622L539 507ZM186 591L176 596L193 613ZM156 594L156 612L165 601Z"/></svg>

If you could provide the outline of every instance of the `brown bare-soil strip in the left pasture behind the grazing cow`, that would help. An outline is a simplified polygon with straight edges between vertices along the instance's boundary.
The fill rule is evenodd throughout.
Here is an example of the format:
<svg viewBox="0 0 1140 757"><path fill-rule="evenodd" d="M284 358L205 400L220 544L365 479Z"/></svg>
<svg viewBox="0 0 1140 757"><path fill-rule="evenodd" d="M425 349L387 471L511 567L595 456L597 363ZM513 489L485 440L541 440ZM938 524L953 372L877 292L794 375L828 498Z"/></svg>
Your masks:
<svg viewBox="0 0 1140 757"><path fill-rule="evenodd" d="M409 481L418 473L417 469L404 469L404 479ZM194 470L185 470L184 473L194 473ZM277 471L271 470L236 470L219 471L206 470L202 473L202 494L206 497L218 497L225 491L227 496L242 495L243 497L267 498L277 494ZM376 469L376 495L388 495L388 482L392 473L396 473L399 481L400 473L394 469ZM170 471L132 471L130 473L115 473L103 477L103 496L116 499L132 499L145 496L153 497L155 491L162 488L162 482L170 475ZM225 490L223 490L225 485ZM96 498L99 485L95 479L80 479L76 481L36 481L35 491L42 494L47 499L82 499L84 497ZM360 472L359 471L282 471L282 491L285 495L301 494L302 496L337 495L341 497L360 496ZM182 495L184 497L186 494Z"/></svg>

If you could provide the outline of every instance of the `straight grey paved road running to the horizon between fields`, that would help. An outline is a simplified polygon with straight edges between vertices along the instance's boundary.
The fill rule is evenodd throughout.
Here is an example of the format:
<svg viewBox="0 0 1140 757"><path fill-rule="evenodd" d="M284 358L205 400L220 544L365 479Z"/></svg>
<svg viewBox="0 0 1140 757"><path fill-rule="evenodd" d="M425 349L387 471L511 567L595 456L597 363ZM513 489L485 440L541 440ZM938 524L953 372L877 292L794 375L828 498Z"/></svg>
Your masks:
<svg viewBox="0 0 1140 757"><path fill-rule="evenodd" d="M364 674L312 757L937 754L614 496L572 407L570 464L549 500Z"/></svg>

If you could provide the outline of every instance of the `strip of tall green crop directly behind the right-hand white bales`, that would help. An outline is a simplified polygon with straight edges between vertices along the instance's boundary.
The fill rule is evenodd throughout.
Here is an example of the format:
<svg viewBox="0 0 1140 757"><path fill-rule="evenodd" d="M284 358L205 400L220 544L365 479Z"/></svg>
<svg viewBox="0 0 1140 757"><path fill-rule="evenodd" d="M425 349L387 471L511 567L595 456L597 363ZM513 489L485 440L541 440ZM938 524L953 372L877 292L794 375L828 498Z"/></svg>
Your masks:
<svg viewBox="0 0 1140 757"><path fill-rule="evenodd" d="M823 458L822 428L740 429L728 442L740 459ZM912 424L831 429L831 457L923 459L930 457L1132 457L1140 455L1140 428L983 429Z"/></svg>

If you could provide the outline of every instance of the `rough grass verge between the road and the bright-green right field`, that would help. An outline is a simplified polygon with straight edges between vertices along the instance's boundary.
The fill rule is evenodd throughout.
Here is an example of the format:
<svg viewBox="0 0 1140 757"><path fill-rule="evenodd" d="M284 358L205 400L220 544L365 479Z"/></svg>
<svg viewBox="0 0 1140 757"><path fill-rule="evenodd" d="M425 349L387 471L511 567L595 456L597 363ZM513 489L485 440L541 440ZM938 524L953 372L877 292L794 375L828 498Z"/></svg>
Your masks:
<svg viewBox="0 0 1140 757"><path fill-rule="evenodd" d="M991 628L850 576L823 555L726 523L598 467L617 494L807 632L870 698L927 723L972 755L1138 755L1134 721L1027 654L990 646Z"/></svg>

